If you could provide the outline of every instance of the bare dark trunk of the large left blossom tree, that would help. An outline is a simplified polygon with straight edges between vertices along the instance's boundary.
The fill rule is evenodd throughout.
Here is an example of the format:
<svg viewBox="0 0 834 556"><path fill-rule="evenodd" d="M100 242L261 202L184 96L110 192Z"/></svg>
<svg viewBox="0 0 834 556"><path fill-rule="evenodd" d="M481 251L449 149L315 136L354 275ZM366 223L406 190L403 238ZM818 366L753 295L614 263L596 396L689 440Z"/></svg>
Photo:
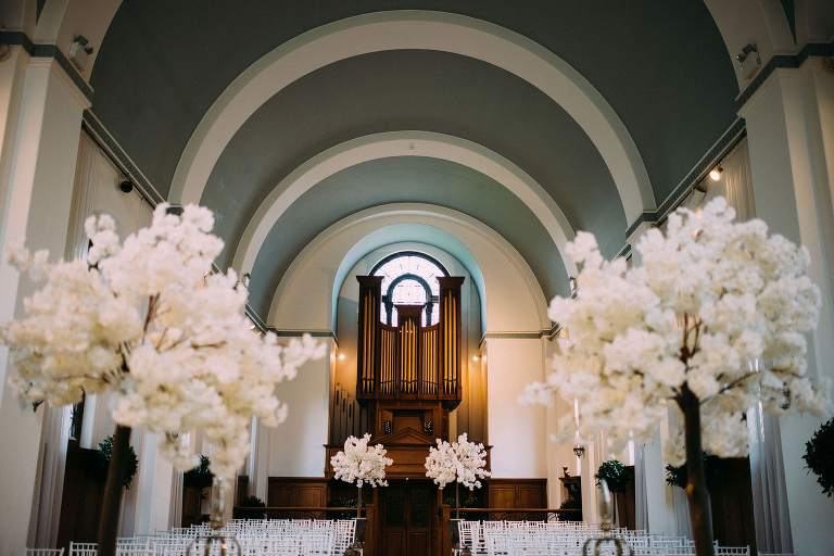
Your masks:
<svg viewBox="0 0 834 556"><path fill-rule="evenodd" d="M98 556L114 556L116 553L116 536L118 535L118 518L122 514L122 471L128 458L130 448L130 427L116 425L113 433L113 452L108 466L108 480L104 483L104 495L101 501L99 517L99 552Z"/></svg>

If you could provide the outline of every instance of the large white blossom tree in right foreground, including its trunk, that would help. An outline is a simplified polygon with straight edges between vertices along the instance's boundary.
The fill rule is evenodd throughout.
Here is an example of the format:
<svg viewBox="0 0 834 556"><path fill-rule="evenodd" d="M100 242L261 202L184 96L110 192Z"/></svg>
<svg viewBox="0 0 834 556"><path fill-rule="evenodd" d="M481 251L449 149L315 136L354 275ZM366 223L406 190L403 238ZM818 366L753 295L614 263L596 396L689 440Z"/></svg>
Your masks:
<svg viewBox="0 0 834 556"><path fill-rule="evenodd" d="M632 434L647 441L675 412L667 458L686 462L699 555L712 554L703 450L746 455L744 414L759 401L774 414L830 405L829 386L816 390L806 377L805 333L820 309L807 250L768 236L761 220L734 217L721 198L703 211L678 210L665 233L642 236L642 264L632 267L604 261L594 237L578 233L568 254L581 266L579 294L549 307L570 338L546 383L526 395L577 400L580 437L605 430L612 450ZM563 425L573 430L573 415Z"/></svg>

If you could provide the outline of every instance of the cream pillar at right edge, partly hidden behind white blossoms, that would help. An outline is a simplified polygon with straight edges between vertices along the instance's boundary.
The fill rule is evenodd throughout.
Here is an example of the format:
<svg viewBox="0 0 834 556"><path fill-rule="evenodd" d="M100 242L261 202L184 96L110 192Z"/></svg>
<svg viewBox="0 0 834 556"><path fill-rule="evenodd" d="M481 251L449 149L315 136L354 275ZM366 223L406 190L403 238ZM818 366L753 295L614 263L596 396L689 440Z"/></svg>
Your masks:
<svg viewBox="0 0 834 556"><path fill-rule="evenodd" d="M810 336L808 372L834 375L834 86L821 58L799 68L776 70L741 110L747 121L753 189L757 215L770 229L805 244L812 258L810 274L820 286L822 309ZM834 552L830 534L834 505L805 469L805 443L821 419L789 416L780 420L787 508L794 552L821 556ZM778 501L771 500L774 504Z"/></svg>

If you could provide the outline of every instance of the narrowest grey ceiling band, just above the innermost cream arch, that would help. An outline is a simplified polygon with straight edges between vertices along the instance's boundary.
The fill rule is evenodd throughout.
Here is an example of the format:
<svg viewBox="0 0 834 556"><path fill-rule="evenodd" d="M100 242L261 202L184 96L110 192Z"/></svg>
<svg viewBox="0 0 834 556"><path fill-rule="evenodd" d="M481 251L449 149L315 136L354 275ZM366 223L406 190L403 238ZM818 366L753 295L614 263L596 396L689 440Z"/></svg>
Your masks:
<svg viewBox="0 0 834 556"><path fill-rule="evenodd" d="M250 303L258 314L266 315L283 271L330 224L380 204L437 199L443 199L446 207L502 230L539 277L545 295L569 291L565 266L547 231L504 186L452 162L403 156L358 164L303 194L271 229L255 261Z"/></svg>

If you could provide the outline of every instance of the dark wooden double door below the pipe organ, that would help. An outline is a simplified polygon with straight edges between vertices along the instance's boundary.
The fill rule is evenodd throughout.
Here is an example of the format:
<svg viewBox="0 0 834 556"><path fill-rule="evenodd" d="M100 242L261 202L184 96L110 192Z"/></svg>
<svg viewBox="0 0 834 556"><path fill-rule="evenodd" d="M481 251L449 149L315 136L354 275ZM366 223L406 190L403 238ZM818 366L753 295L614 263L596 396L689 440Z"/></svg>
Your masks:
<svg viewBox="0 0 834 556"><path fill-rule="evenodd" d="M390 481L380 489L382 554L431 556L437 486L429 481Z"/></svg>

